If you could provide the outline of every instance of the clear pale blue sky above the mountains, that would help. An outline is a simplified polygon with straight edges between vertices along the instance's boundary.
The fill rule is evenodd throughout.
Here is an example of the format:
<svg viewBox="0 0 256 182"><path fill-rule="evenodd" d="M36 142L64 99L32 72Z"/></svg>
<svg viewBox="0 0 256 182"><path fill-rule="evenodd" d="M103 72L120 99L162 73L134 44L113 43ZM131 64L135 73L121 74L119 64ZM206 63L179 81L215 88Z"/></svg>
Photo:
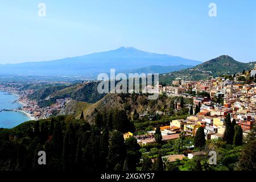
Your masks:
<svg viewBox="0 0 256 182"><path fill-rule="evenodd" d="M38 3L46 3L46 17ZM217 17L209 17L209 3ZM205 61L256 60L256 1L0 0L0 64L53 60L121 46Z"/></svg>

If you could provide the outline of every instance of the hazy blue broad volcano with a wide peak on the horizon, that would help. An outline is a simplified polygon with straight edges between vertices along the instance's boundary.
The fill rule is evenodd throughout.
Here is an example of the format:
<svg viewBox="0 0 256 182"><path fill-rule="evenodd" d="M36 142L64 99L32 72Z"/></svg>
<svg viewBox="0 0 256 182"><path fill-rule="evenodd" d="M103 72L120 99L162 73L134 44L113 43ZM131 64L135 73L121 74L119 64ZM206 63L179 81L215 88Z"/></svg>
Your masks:
<svg viewBox="0 0 256 182"><path fill-rule="evenodd" d="M75 75L95 77L98 73L108 73L110 68L116 69L117 72L122 72L151 65L163 67L181 64L194 66L200 63L200 61L178 56L144 52L133 47L120 47L112 51L67 57L60 60L0 65L0 75Z"/></svg>

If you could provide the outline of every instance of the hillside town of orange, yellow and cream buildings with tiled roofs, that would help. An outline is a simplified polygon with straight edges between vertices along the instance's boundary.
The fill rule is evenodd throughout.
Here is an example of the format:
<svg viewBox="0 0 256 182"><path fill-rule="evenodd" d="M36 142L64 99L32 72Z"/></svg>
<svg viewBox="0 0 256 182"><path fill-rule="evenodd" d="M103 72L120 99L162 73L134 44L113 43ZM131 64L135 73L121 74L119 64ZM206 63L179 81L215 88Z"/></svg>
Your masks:
<svg viewBox="0 0 256 182"><path fill-rule="evenodd" d="M148 93L166 94L169 97L192 98L193 104L187 104L191 115L185 119L175 119L170 125L161 126L164 140L179 138L176 135L183 131L185 135L195 137L199 127L204 127L207 139L223 138L225 118L230 114L231 121L235 119L241 126L245 136L255 126L256 117L256 65L253 70L244 71L232 76L222 76L206 81L185 81L177 78L171 86L146 86ZM200 96L199 96L200 95ZM181 109L180 102L176 110ZM164 114L162 112L162 114ZM153 131L148 131L150 137L137 137L140 144L156 142ZM171 137L170 135L173 135ZM141 139L143 138L143 139Z"/></svg>

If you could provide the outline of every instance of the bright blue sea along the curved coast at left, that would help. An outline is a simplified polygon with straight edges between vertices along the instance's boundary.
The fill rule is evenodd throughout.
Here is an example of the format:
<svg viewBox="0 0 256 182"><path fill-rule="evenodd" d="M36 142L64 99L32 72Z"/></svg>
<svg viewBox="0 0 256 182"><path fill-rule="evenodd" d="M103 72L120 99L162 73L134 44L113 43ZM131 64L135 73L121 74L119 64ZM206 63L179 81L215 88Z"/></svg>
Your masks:
<svg viewBox="0 0 256 182"><path fill-rule="evenodd" d="M3 111L3 109L10 110L22 107L18 102L15 102L16 100L18 97L14 94L0 91L0 128L11 129L30 120L30 117L20 111Z"/></svg>

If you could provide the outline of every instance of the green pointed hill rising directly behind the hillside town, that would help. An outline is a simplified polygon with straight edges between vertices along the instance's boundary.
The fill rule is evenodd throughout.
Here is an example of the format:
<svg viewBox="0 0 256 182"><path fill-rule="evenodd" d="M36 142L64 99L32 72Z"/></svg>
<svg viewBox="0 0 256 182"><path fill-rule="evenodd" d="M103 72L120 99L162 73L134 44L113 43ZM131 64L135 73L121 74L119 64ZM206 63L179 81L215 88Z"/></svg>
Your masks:
<svg viewBox="0 0 256 182"><path fill-rule="evenodd" d="M170 84L170 81L176 78L184 80L207 80L220 75L233 75L234 73L242 72L243 69L253 69L254 64L255 62L241 63L234 60L233 57L222 55L190 69L160 75L159 80L167 84Z"/></svg>

